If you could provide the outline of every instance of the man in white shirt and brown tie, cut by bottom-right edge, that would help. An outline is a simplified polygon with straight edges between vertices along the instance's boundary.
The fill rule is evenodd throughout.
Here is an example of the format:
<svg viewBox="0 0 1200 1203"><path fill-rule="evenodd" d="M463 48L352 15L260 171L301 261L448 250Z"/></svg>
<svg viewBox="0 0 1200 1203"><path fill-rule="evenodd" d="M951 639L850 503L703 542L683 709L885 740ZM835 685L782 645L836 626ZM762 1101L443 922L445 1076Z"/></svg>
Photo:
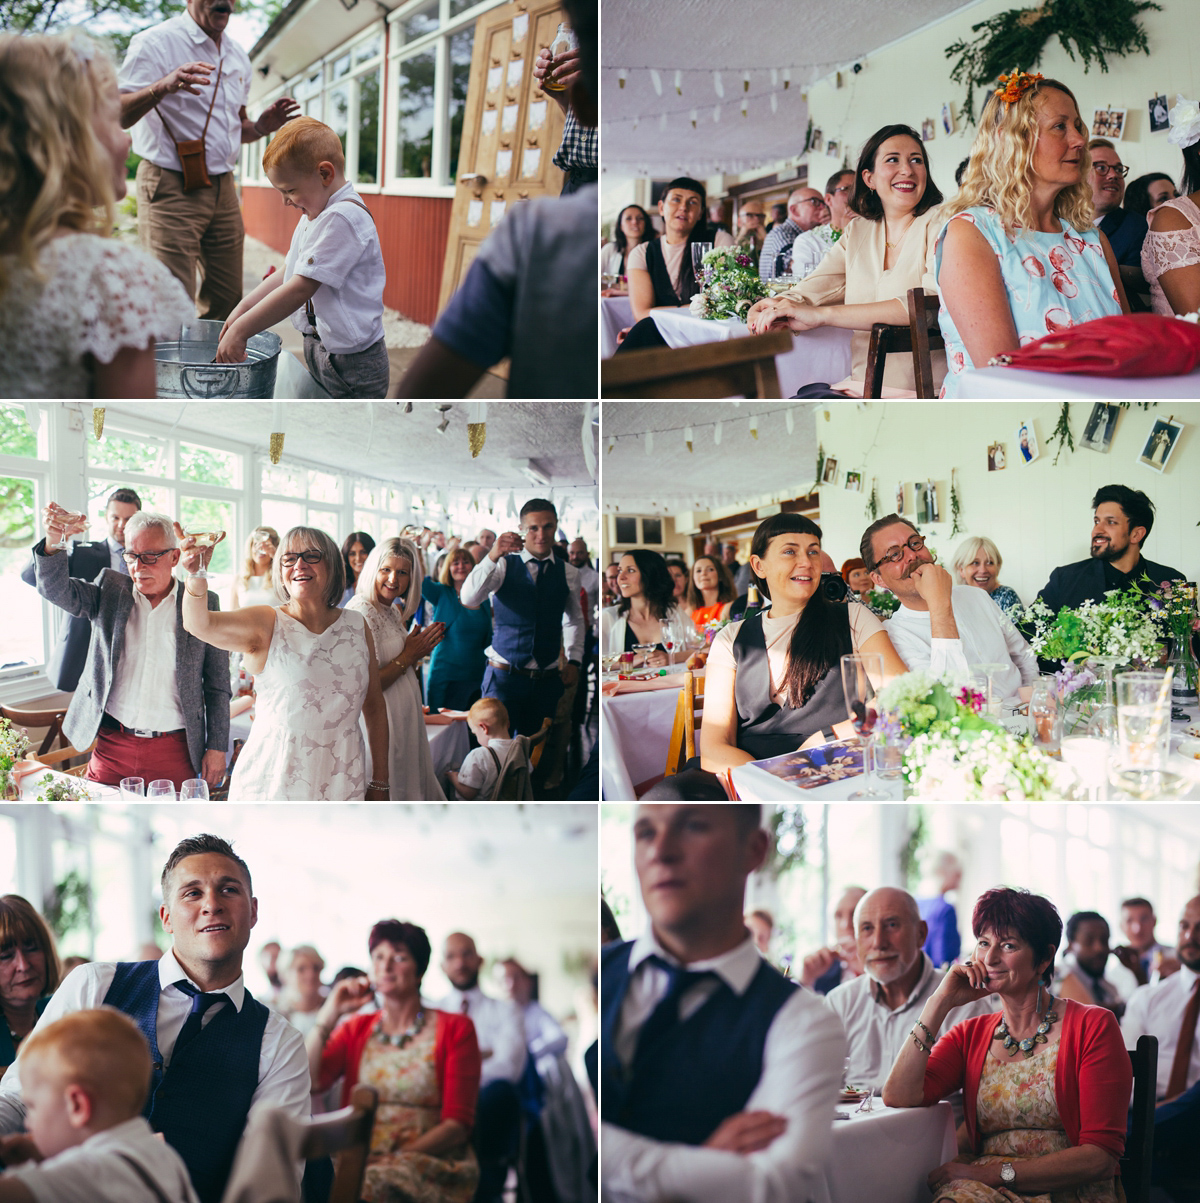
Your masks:
<svg viewBox="0 0 1200 1203"><path fill-rule="evenodd" d="M1200 894L1183 906L1176 955L1180 970L1139 986L1121 1021L1127 1048L1139 1036L1158 1038L1154 1109L1154 1181L1200 1181ZM1195 1195L1187 1197L1194 1199Z"/></svg>

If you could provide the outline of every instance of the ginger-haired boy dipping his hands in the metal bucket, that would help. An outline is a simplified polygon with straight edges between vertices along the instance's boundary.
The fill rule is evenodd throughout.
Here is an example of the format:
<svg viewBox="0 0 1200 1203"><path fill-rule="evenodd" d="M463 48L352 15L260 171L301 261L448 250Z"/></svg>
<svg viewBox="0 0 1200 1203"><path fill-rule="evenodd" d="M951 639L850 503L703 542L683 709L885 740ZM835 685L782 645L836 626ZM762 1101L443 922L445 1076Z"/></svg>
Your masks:
<svg viewBox="0 0 1200 1203"><path fill-rule="evenodd" d="M297 117L271 140L262 166L304 215L284 271L243 297L221 330L220 363L242 363L253 336L291 316L304 363L333 397L386 397L384 253L375 221L346 183L341 142L328 125Z"/></svg>

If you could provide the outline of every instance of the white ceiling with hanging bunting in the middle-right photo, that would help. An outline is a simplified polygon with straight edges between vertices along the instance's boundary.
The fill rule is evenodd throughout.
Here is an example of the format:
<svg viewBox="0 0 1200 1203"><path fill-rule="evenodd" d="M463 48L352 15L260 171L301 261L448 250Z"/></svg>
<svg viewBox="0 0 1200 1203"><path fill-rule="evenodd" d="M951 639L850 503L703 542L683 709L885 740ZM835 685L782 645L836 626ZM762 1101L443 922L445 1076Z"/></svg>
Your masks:
<svg viewBox="0 0 1200 1203"><path fill-rule="evenodd" d="M678 514L764 496L803 496L816 468L815 413L816 403L794 401L605 402L605 512ZM758 439L750 434L752 415L759 417ZM717 422L720 444L714 442ZM689 426L691 451L684 443ZM642 437L648 431L655 432L649 455Z"/></svg>

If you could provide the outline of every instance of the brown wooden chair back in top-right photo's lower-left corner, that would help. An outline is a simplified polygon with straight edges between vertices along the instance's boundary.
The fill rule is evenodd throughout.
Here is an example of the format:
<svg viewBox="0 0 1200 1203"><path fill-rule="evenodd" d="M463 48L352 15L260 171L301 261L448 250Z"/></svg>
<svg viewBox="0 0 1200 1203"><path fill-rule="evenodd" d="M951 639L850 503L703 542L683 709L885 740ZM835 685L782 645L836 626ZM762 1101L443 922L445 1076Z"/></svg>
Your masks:
<svg viewBox="0 0 1200 1203"><path fill-rule="evenodd" d="M624 351L600 365L600 396L779 397L776 356L792 348L790 330L657 350Z"/></svg>

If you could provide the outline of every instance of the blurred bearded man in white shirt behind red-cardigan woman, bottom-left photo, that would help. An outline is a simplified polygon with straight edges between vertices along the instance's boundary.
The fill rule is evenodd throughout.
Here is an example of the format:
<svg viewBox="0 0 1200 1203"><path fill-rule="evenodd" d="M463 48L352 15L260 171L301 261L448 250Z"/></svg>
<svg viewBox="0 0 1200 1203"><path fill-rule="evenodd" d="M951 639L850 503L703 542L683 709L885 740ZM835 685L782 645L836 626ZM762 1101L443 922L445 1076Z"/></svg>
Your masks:
<svg viewBox="0 0 1200 1203"><path fill-rule="evenodd" d="M482 966L483 958L470 936L462 931L448 935L441 949L441 972L453 989L434 1006L438 1011L467 1015L479 1037L482 1075L471 1133L480 1163L475 1203L493 1203L504 1190L501 1162L517 1140L521 1115L517 1083L525 1072L528 1054L521 1012L513 1003L488 997L480 989Z"/></svg>

